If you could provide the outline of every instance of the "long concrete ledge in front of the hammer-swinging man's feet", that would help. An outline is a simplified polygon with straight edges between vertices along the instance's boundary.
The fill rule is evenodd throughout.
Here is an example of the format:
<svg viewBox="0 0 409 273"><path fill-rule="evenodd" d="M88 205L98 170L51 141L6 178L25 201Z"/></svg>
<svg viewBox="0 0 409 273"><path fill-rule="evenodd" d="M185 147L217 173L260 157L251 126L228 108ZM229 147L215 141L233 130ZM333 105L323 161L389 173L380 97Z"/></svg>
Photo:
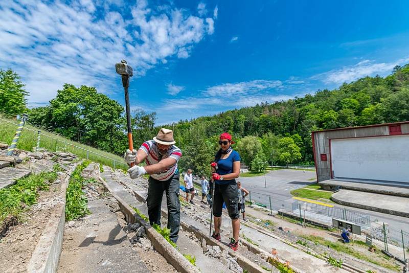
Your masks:
<svg viewBox="0 0 409 273"><path fill-rule="evenodd" d="M152 245L158 253L160 253L165 259L175 267L175 269L181 273L200 273L199 269L192 265L183 255L180 254L173 246L171 246L162 235L156 232L153 227L142 219L135 211L127 204L122 198L115 194L104 179L98 177L102 182L104 188L109 191L119 203L122 213L125 215L125 219L128 223L139 222L144 226L146 235L151 241Z"/></svg>

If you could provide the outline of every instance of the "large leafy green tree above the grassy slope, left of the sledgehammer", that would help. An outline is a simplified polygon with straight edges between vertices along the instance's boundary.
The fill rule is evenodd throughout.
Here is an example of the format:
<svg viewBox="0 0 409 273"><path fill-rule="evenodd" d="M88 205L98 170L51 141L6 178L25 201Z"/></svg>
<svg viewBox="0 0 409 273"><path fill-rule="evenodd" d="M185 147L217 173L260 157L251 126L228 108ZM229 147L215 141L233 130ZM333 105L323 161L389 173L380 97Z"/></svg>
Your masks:
<svg viewBox="0 0 409 273"><path fill-rule="evenodd" d="M64 84L49 106L30 111L30 122L71 140L122 155L126 149L123 112L122 105L98 93L95 87Z"/></svg>

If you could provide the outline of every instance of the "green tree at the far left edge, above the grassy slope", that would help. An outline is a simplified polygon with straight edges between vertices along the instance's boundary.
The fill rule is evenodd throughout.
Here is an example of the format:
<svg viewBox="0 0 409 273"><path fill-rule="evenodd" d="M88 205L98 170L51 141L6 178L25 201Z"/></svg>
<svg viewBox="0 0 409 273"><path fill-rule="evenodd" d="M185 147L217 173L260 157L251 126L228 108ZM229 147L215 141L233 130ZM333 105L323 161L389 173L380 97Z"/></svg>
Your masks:
<svg viewBox="0 0 409 273"><path fill-rule="evenodd" d="M0 69L0 112L16 116L26 111L28 92L24 86L11 69Z"/></svg>

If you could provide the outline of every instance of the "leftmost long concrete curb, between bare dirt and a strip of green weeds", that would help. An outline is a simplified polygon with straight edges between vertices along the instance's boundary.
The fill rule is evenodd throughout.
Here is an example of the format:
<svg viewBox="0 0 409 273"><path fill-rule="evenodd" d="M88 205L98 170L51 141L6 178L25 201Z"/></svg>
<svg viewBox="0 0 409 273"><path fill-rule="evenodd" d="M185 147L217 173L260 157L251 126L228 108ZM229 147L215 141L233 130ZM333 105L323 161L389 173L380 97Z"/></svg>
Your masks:
<svg viewBox="0 0 409 273"><path fill-rule="evenodd" d="M74 172L75 167L69 171L70 175ZM61 182L61 190L56 197L61 200L60 203L55 206L57 215L50 217L34 249L27 265L27 271L30 273L57 272L65 225L65 192L69 180L70 176L66 175Z"/></svg>

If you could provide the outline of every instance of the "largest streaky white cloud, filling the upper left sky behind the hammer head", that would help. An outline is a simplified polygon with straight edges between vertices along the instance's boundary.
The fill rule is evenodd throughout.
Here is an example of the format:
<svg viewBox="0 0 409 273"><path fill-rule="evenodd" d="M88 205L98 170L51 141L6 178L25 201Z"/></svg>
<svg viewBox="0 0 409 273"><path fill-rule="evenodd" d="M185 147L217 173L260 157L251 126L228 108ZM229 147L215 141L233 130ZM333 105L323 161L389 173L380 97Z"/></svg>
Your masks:
<svg viewBox="0 0 409 273"><path fill-rule="evenodd" d="M214 32L214 21L145 0L0 1L0 67L21 75L29 104L52 99L63 83L110 93L126 58L135 77L169 57L189 57L195 43ZM156 8L156 10L154 10Z"/></svg>

